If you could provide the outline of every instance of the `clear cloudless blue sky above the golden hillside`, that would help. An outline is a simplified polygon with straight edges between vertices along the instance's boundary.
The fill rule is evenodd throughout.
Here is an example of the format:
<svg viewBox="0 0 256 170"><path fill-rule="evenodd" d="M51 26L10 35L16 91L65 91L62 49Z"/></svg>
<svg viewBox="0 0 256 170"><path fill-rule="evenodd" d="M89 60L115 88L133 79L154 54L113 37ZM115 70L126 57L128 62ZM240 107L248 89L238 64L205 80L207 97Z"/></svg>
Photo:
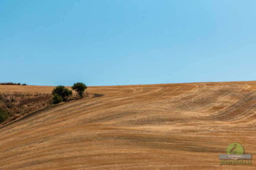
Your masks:
<svg viewBox="0 0 256 170"><path fill-rule="evenodd" d="M256 1L1 0L0 82L256 80Z"/></svg>

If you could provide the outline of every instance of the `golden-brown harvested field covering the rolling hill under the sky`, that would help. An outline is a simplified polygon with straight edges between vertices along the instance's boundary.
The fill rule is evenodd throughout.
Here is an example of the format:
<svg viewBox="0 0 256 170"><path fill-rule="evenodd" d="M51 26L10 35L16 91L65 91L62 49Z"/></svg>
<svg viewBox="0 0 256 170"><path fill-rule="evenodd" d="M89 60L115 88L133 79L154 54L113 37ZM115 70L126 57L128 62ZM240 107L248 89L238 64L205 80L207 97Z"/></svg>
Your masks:
<svg viewBox="0 0 256 170"><path fill-rule="evenodd" d="M49 86L0 86L50 93ZM89 87L0 128L0 169L256 169L256 82ZM251 165L220 165L233 142Z"/></svg>

